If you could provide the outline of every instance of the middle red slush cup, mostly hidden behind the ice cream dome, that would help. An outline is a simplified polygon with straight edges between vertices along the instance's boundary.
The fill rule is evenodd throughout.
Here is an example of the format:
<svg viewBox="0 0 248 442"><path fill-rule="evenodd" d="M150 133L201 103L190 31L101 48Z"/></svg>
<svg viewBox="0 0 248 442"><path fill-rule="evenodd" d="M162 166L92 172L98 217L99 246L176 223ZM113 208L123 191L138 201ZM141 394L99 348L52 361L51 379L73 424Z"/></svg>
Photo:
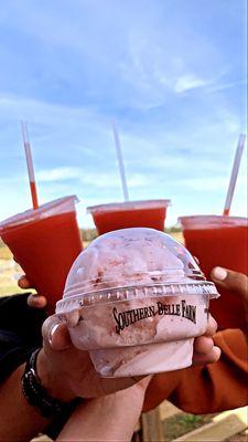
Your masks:
<svg viewBox="0 0 248 442"><path fill-rule="evenodd" d="M88 207L99 234L127 228L164 230L170 200L115 202Z"/></svg>

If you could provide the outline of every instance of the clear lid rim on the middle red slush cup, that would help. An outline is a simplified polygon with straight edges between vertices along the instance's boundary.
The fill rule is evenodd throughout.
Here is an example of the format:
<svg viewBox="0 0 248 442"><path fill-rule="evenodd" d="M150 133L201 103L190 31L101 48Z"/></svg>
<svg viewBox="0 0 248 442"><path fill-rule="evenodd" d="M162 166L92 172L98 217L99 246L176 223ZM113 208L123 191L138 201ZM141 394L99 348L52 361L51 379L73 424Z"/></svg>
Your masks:
<svg viewBox="0 0 248 442"><path fill-rule="evenodd" d="M87 213L96 212L115 212L125 210L142 210L142 209L157 209L168 208L171 206L171 200L155 199L155 200L137 200L137 201L123 201L123 202L108 202L106 204L97 204L87 207ZM104 210L103 210L104 209Z"/></svg>

